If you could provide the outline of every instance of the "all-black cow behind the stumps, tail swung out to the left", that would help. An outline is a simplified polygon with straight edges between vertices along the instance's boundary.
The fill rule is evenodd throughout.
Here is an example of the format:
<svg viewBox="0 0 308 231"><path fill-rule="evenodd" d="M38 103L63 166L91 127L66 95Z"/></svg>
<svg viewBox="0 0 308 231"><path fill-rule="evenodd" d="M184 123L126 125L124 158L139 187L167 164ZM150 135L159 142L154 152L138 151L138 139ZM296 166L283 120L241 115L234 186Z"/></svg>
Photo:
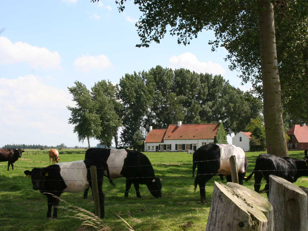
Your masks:
<svg viewBox="0 0 308 231"><path fill-rule="evenodd" d="M259 193L261 180L264 177L266 180L264 191L268 197L270 175L279 176L293 183L301 176L308 176L307 161L261 153L257 157L252 173L245 180L249 180L254 174L254 191Z"/></svg>

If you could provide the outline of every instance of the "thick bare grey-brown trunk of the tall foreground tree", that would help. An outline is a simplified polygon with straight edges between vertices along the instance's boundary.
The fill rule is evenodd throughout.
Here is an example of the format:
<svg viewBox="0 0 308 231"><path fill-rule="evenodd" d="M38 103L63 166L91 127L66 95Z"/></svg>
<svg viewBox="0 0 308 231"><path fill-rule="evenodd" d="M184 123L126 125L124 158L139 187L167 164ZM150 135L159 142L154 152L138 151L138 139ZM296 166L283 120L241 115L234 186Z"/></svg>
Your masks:
<svg viewBox="0 0 308 231"><path fill-rule="evenodd" d="M263 114L267 153L276 156L288 156L287 142L282 120L274 6L270 0L257 0L257 7L259 16Z"/></svg>

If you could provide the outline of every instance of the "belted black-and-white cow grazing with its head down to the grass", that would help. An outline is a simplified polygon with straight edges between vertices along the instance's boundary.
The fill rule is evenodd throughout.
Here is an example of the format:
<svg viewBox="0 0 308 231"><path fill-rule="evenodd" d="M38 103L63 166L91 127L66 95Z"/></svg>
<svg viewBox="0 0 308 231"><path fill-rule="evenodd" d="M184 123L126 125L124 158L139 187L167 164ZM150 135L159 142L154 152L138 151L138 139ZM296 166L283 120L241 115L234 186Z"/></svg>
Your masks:
<svg viewBox="0 0 308 231"><path fill-rule="evenodd" d="M155 177L152 164L147 156L141 152L126 149L89 148L85 160L102 158L109 166L110 177L126 177L124 197L128 197L128 190L134 184L136 196L141 197L139 184L147 185L154 197L161 197L160 178ZM84 191L83 198L87 198L88 189Z"/></svg>

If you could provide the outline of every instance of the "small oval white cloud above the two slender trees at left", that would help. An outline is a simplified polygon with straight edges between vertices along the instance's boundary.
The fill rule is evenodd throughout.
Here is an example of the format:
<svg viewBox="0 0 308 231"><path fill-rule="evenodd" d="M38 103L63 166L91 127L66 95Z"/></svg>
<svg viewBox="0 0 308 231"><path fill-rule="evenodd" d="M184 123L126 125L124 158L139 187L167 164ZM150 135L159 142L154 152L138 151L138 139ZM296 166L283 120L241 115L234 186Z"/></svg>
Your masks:
<svg viewBox="0 0 308 231"><path fill-rule="evenodd" d="M112 67L111 62L105 55L83 55L80 58L75 59L74 65L84 72L88 72L92 69L103 70L108 67Z"/></svg>

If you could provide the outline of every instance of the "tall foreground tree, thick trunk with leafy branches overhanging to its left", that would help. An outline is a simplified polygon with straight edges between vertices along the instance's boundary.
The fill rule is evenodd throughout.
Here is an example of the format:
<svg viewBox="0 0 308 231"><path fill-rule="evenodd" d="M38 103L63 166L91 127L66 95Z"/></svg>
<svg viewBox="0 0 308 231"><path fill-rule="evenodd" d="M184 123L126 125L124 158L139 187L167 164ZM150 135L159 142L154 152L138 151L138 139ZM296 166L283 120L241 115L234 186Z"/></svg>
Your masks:
<svg viewBox="0 0 308 231"><path fill-rule="evenodd" d="M116 0L120 11L124 10L125 2L126 0ZM134 3L143 12L136 23L141 40L137 47L149 47L152 41L159 43L167 33L167 26L171 28L169 33L178 36L178 43L184 45L196 38L200 31L214 30L216 40L210 42L212 49L215 50L219 45L225 47L229 52L227 59L232 63L229 68L240 69L242 79L251 81L255 90L263 87L268 152L278 156L288 155L282 121L274 6L270 0L135 0ZM269 51L271 54L268 54ZM250 57L257 57L257 62L253 63ZM265 60L265 57L268 59ZM269 70L271 71L267 72ZM270 98L274 100L270 101Z"/></svg>

